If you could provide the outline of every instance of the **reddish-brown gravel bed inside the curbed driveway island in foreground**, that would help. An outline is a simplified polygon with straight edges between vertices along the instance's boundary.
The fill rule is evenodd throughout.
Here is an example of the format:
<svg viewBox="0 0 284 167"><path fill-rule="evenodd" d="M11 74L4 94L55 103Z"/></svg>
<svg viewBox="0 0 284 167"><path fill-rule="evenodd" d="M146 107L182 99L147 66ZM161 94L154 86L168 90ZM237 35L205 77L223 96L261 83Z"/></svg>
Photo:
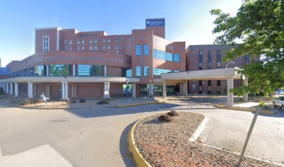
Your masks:
<svg viewBox="0 0 284 167"><path fill-rule="evenodd" d="M178 112L173 122L161 122L163 113L141 120L134 129L134 141L139 152L151 166L235 166L239 156L200 143L191 143L204 116ZM242 166L274 166L244 157Z"/></svg>

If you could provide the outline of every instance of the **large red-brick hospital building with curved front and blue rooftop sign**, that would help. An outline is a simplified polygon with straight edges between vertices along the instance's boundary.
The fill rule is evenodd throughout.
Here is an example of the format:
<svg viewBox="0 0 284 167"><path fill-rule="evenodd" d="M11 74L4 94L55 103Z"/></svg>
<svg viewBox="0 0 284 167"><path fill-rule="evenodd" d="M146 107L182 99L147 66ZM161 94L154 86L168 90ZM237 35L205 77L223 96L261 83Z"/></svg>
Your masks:
<svg viewBox="0 0 284 167"><path fill-rule="evenodd" d="M79 32L59 27L35 30L35 54L7 67L12 74L0 79L10 95L67 99L115 97L129 93L161 95L161 74L224 68L228 45L190 45L165 38L165 19L146 19L145 29L131 34L109 35L105 31ZM228 67L244 67L248 56ZM236 80L235 86L242 85ZM168 95L181 95L182 83L169 82ZM225 80L188 81L188 93L226 94Z"/></svg>

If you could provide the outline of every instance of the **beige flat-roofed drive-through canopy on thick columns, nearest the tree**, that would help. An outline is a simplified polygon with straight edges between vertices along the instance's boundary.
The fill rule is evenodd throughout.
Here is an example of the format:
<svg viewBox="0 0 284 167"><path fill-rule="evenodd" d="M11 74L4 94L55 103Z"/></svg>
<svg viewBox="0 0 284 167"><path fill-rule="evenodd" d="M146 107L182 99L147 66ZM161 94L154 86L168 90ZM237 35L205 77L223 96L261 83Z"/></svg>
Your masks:
<svg viewBox="0 0 284 167"><path fill-rule="evenodd" d="M173 72L161 74L160 81L163 82L163 97L166 97L166 84L182 83L184 87L184 95L187 95L187 81L189 80L227 80L228 86L228 106L233 105L233 94L230 93L230 89L234 88L234 79L242 79L240 74L237 74L238 67L218 68L213 70L198 70L187 72ZM244 79L243 83L247 85L247 79ZM244 94L244 101L247 101L247 94Z"/></svg>

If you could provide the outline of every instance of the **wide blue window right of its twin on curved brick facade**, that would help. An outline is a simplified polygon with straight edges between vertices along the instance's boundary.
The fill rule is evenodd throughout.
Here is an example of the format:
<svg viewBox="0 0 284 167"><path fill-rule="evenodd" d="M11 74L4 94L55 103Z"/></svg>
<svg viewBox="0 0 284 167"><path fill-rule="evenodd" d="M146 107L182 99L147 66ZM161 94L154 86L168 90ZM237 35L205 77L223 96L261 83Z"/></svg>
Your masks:
<svg viewBox="0 0 284 167"><path fill-rule="evenodd" d="M78 65L78 75L102 76L102 65Z"/></svg>

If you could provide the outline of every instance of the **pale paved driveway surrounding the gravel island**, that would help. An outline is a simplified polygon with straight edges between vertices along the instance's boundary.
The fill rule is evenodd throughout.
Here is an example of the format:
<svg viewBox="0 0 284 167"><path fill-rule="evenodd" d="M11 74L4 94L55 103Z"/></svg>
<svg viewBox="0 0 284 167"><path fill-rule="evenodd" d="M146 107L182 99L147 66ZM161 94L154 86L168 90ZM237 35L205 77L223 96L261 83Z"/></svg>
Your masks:
<svg viewBox="0 0 284 167"><path fill-rule="evenodd" d="M0 100L0 166L135 166L127 149L129 128L140 118L170 109L203 113L210 123L202 141L237 152L253 114L211 105L224 100L187 97L120 109L68 110L18 109ZM247 153L282 162L283 145L284 114L259 116Z"/></svg>

